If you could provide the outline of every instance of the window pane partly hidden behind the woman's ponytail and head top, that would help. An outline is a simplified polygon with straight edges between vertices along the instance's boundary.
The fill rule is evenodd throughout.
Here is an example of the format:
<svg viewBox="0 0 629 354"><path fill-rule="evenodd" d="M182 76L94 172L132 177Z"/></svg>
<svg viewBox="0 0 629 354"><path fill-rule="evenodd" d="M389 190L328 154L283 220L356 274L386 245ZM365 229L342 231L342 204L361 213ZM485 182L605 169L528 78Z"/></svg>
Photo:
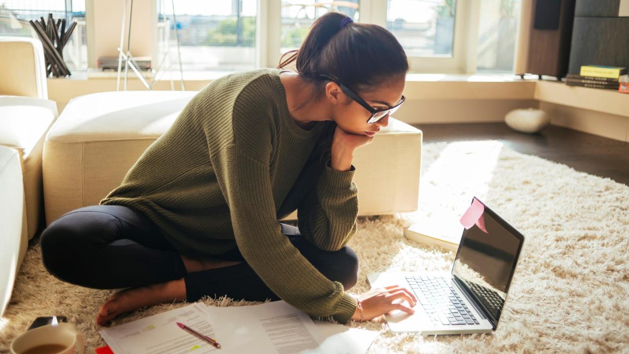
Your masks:
<svg viewBox="0 0 629 354"><path fill-rule="evenodd" d="M310 26L328 11L347 14L354 21L359 20L359 0L301 0L282 1L281 53L298 49L304 41Z"/></svg>

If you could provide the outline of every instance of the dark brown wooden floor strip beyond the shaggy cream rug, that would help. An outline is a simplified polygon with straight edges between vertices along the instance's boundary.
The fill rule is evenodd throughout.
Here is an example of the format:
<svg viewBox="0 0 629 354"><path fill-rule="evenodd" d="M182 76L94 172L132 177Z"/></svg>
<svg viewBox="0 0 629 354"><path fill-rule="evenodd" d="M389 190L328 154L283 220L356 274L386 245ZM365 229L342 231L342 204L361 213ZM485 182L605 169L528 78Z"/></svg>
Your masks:
<svg viewBox="0 0 629 354"><path fill-rule="evenodd" d="M629 143L579 131L547 126L539 134L511 130L504 123L413 124L424 143L460 140L499 140L516 152L537 155L575 170L609 177L629 185Z"/></svg>

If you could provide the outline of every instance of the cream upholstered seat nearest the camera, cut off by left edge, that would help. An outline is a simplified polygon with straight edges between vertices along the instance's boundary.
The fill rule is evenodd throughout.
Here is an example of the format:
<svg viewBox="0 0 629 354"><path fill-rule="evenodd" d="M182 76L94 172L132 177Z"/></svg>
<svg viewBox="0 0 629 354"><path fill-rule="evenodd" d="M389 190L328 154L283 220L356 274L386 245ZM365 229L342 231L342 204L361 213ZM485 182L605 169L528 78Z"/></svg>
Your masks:
<svg viewBox="0 0 629 354"><path fill-rule="evenodd" d="M0 318L26 253L26 203L18 152L0 146Z"/></svg>

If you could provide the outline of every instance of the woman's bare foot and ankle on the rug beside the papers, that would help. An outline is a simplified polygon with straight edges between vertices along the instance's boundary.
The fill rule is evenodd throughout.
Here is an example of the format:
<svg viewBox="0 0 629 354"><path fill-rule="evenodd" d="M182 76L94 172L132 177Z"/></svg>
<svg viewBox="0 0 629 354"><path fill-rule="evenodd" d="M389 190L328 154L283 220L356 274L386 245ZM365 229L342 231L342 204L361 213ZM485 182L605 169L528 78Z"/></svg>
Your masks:
<svg viewBox="0 0 629 354"><path fill-rule="evenodd" d="M104 326L121 313L175 301L186 301L186 283L183 278L145 287L120 290L101 306L96 316L96 324Z"/></svg>

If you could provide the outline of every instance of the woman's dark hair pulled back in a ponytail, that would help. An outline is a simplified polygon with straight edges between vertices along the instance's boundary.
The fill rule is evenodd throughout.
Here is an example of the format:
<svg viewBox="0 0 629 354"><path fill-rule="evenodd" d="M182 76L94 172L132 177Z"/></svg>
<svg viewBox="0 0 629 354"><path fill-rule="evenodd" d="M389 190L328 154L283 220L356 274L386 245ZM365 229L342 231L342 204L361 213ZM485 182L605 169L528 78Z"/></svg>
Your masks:
<svg viewBox="0 0 629 354"><path fill-rule="evenodd" d="M311 99L318 100L325 94L326 80L319 77L321 74L360 93L373 91L387 80L408 72L406 53L391 32L365 23L350 22L341 27L346 17L336 12L324 14L313 23L301 47L280 58L278 69L296 61L298 74L314 85L315 94ZM290 57L282 62L289 54ZM313 149L313 155L319 156L321 162L331 156L337 126L333 121L325 123L321 138Z"/></svg>

